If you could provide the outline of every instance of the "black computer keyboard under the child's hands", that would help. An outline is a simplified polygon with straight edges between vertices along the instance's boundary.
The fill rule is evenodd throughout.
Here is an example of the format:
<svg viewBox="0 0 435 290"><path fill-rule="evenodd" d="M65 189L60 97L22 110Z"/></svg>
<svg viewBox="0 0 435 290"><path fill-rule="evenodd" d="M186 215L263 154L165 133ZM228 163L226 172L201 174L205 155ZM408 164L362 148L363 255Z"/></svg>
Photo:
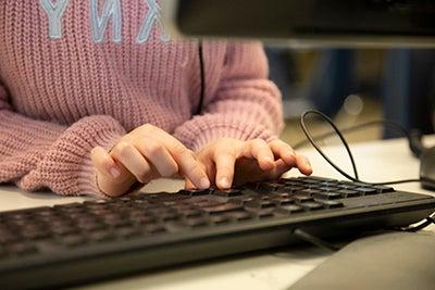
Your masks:
<svg viewBox="0 0 435 290"><path fill-rule="evenodd" d="M407 226L435 199L319 177L0 213L0 289L57 288L318 238Z"/></svg>

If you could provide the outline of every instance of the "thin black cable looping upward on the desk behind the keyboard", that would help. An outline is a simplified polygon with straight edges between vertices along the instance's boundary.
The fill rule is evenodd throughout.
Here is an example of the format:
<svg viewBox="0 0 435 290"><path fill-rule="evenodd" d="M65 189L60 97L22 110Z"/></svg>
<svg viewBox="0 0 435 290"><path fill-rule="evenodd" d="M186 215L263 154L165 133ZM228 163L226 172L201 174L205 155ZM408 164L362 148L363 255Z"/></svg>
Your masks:
<svg viewBox="0 0 435 290"><path fill-rule="evenodd" d="M322 149L318 146L318 143L315 142L314 138L312 137L312 135L310 134L307 124L306 124L306 118L308 115L310 114L314 114L318 115L320 117L322 117L324 121L326 121L333 128L335 134L338 135L338 137L340 138L341 142L344 143L346 151L349 154L350 157L350 162L352 164L352 168L353 168L353 173L355 173L355 177L348 175L345 171L343 171L340 167L338 167L332 160L330 160L326 154L322 151ZM393 122L387 122L389 124L394 124ZM357 171L357 165L355 163L353 160L353 155L350 151L349 144L346 141L346 138L343 136L341 131L337 128L337 126L334 124L334 122L326 116L325 114L315 111L315 110L309 110L307 112L304 112L300 118L300 125L302 127L303 133L307 136L307 139L309 140L309 142L314 147L314 149L327 161L327 163L330 163L331 166L333 166L338 173L340 173L343 176L345 176L346 178L348 178L349 180L356 181L356 182L362 182L362 184L366 184L366 185L372 185L372 186L382 186L382 185L396 185L396 184L406 184L406 182L421 182L421 179L402 179L402 180L394 180L394 181L386 181L386 182L366 182L366 181L362 181L358 178L358 171ZM364 125L364 124L363 124ZM361 125L362 126L362 125ZM368 126L368 125L365 125ZM395 125L393 125L395 126ZM397 126L396 126L397 127ZM406 131L406 130L405 130ZM327 135L330 135L331 133L328 133ZM407 137L409 136L408 133L405 134ZM322 136L321 136L322 137Z"/></svg>

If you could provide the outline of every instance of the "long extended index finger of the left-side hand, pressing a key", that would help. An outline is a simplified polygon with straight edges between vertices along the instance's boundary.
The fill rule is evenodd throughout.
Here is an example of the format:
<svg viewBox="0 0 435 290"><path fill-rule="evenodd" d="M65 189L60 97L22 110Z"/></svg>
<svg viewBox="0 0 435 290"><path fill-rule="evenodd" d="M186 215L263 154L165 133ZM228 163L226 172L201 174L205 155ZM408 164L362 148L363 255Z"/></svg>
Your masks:
<svg viewBox="0 0 435 290"><path fill-rule="evenodd" d="M207 189L210 187L210 180L204 169L195 157L194 152L163 130L160 130L156 137L163 143L178 164L179 171L194 182L196 188Z"/></svg>

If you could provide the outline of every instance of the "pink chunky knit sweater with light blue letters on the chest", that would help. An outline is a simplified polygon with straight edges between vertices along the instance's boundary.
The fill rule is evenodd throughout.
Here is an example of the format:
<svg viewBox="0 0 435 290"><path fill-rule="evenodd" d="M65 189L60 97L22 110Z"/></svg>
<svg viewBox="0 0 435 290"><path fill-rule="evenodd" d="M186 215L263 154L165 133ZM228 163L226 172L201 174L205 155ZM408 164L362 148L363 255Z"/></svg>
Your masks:
<svg viewBox="0 0 435 290"><path fill-rule="evenodd" d="M279 133L260 45L204 41L206 100L194 116L198 42L167 41L154 0L94 2L0 1L0 182L98 196L90 150L147 123L192 150Z"/></svg>

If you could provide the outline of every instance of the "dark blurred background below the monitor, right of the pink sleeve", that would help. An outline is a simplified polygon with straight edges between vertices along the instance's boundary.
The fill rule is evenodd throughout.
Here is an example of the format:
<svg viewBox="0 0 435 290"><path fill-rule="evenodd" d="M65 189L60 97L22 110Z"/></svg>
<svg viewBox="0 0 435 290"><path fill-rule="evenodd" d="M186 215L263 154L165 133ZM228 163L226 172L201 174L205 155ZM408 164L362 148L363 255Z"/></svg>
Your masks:
<svg viewBox="0 0 435 290"><path fill-rule="evenodd" d="M325 113L339 128L387 118L434 133L435 50L266 47L266 54L270 77L283 93L287 126L282 137L290 144L304 139L299 118L307 109ZM310 119L310 129L332 128ZM351 142L394 137L400 136L381 126L346 136Z"/></svg>

